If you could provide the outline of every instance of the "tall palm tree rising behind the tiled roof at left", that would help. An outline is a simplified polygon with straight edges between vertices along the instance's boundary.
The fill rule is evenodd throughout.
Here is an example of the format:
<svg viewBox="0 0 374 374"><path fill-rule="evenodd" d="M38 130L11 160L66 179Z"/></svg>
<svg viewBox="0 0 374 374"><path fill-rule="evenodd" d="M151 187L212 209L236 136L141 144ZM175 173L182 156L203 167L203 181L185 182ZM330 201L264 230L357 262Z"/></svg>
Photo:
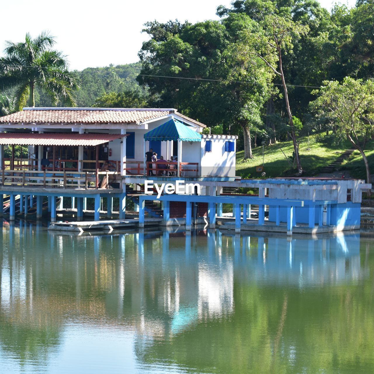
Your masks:
<svg viewBox="0 0 374 374"><path fill-rule="evenodd" d="M35 39L27 33L25 42L6 42L5 57L0 58L0 91L16 88L16 110L22 110L27 100L35 107L35 86L47 93L54 105L60 100L76 105L73 90L78 85L68 71L66 56L50 49L54 44L54 37L46 32Z"/></svg>

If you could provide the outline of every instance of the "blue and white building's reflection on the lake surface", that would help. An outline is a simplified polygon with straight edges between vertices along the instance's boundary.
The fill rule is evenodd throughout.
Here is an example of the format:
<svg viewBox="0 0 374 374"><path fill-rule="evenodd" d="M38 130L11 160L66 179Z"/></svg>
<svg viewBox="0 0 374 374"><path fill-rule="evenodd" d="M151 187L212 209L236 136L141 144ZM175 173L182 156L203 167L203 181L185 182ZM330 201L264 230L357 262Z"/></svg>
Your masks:
<svg viewBox="0 0 374 374"><path fill-rule="evenodd" d="M61 343L71 321L131 329L141 357L154 340L229 318L240 303L236 292L253 283L306 288L368 275L358 234L288 241L141 230L76 237L22 223L4 224L1 240L0 346L18 359L38 359L40 344L48 350Z"/></svg>

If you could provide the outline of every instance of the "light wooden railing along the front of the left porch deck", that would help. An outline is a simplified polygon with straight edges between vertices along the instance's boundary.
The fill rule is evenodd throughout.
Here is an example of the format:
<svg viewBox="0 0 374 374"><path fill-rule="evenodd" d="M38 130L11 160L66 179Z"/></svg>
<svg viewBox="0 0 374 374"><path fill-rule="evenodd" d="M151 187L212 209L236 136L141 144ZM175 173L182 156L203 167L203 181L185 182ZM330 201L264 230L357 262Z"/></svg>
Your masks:
<svg viewBox="0 0 374 374"><path fill-rule="evenodd" d="M109 180L110 175L117 179L118 172L74 172L74 171L33 171L1 170L1 186L40 186L62 188L99 188L99 175ZM93 184L93 186L92 186ZM109 184L107 183L107 187Z"/></svg>

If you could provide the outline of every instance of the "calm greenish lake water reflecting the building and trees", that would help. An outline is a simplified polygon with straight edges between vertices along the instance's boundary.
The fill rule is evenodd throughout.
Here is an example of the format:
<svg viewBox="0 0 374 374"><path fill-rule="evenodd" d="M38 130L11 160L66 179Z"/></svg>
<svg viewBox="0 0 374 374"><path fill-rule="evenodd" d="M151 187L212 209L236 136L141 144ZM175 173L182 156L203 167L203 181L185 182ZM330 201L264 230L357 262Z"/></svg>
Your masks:
<svg viewBox="0 0 374 374"><path fill-rule="evenodd" d="M373 373L374 242L0 227L0 373Z"/></svg>

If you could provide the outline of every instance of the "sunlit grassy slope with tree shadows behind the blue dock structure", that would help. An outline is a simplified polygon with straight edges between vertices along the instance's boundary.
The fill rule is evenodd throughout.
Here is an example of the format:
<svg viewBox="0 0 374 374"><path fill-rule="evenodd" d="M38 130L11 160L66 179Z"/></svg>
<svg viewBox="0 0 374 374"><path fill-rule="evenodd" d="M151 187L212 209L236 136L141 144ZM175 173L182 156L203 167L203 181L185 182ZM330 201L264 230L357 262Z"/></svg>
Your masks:
<svg viewBox="0 0 374 374"><path fill-rule="evenodd" d="M310 135L308 150L308 138L300 138L300 160L304 170L304 176L314 177L321 172L324 166L337 159L346 149L350 149L349 142L337 144L333 136L322 134ZM286 156L292 156L292 141L279 142L275 145L264 147L264 171L266 177L291 177L296 173L295 168L289 164ZM261 173L256 172L256 166L262 165L262 146L253 149L253 159L243 160L243 151L236 154L237 174L243 178L261 178ZM374 143L370 142L365 147L372 172L374 173ZM341 166L342 170L349 170L355 178L366 178L365 165L361 155L355 151L353 155Z"/></svg>

